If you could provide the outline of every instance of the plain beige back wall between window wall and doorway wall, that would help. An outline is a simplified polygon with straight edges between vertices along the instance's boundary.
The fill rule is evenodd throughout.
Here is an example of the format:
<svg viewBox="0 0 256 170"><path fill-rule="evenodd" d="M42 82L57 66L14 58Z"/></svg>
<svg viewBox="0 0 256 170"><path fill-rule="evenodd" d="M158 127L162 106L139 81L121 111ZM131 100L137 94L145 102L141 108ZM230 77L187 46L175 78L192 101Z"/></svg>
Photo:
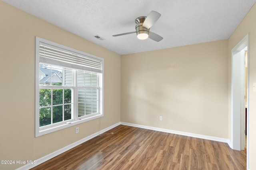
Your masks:
<svg viewBox="0 0 256 170"><path fill-rule="evenodd" d="M121 121L227 139L227 66L228 40L122 55Z"/></svg>

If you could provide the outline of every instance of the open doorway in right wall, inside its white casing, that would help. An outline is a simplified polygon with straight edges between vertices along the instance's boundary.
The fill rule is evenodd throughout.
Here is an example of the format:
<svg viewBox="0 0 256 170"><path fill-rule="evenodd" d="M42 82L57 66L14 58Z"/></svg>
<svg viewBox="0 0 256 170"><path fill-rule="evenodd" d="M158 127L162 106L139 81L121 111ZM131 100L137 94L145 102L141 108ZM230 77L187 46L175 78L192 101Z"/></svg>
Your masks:
<svg viewBox="0 0 256 170"><path fill-rule="evenodd" d="M247 55L247 56L246 56ZM232 78L231 78L231 143L232 149L244 150L246 146L246 130L248 134L248 35L232 49ZM247 81L247 82L246 82ZM247 93L246 93L247 92ZM248 141L248 140L247 140ZM248 150L248 143L247 143ZM247 152L248 156L248 152ZM248 161L248 160L247 160Z"/></svg>

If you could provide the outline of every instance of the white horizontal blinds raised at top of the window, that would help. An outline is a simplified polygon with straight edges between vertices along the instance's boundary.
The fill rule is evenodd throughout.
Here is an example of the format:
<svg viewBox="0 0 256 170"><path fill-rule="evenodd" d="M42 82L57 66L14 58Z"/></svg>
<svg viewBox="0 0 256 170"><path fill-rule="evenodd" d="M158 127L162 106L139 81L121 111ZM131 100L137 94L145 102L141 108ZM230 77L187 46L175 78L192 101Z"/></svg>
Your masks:
<svg viewBox="0 0 256 170"><path fill-rule="evenodd" d="M102 73L102 61L40 42L40 63Z"/></svg>

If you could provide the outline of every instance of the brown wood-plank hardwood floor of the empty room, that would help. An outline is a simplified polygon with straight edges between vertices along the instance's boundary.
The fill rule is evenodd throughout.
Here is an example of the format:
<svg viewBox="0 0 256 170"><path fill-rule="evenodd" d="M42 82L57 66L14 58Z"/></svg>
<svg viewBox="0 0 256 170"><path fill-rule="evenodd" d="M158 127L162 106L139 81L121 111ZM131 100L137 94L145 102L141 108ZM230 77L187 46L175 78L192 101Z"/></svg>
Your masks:
<svg viewBox="0 0 256 170"><path fill-rule="evenodd" d="M107 133L32 170L246 170L246 150L226 143L125 125Z"/></svg>

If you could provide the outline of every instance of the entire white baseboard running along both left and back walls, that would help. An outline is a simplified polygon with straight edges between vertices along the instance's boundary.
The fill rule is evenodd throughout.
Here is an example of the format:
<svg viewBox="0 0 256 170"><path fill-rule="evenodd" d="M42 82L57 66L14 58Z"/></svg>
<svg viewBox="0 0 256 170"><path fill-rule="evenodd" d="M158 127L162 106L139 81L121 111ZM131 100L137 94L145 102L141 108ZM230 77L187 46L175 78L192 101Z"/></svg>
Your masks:
<svg viewBox="0 0 256 170"><path fill-rule="evenodd" d="M212 140L212 141L218 141L218 142L224 142L224 143L228 143L229 146L231 146L231 142L228 139L225 138L219 138L219 137L212 137L212 136L206 136L206 135L198 135L198 134L194 134L194 133L187 133L187 132L181 132L181 131L173 131L173 130L169 130L169 129L162 129L162 128L158 128L158 127L150 127L150 126L144 126L144 125L137 125L137 124L133 124L133 123L126 123L126 122L119 122L116 123L110 127L107 127L106 129L103 129L99 132L96 132L88 137L85 137L84 139L81 139L79 141L76 141L62 149L56 150L55 152L52 152L42 158L39 158L36 160L36 164L26 164L16 170L28 170L30 168L33 168L39 164L42 164L43 162L46 162L47 160L50 160L51 158L54 158L55 156L58 156L59 154L62 154L63 152L66 152L67 150L70 150L118 125L127 125L127 126L133 126L133 127L139 127L139 128L143 128L143 129L149 129L149 130L154 130L154 131L160 131L160 132L166 132L166 133L173 133L173 134L177 134L177 135L184 135L184 136L189 136L189 137L196 137L196 138L200 138L200 139L207 139L207 140ZM232 147L231 147L232 148Z"/></svg>

